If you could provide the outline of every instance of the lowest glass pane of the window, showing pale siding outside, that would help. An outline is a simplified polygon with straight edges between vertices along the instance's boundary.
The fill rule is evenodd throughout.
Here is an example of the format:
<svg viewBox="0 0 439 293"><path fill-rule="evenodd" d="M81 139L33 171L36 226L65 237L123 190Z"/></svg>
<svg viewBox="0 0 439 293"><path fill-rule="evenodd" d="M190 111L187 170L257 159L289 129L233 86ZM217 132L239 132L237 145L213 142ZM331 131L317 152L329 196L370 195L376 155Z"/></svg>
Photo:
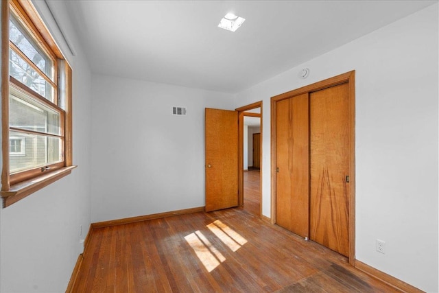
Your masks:
<svg viewBox="0 0 439 293"><path fill-rule="evenodd" d="M34 167L44 167L62 161L62 141L58 137L23 134L10 131L10 137L24 139L25 151L22 156L10 154L10 172L15 173Z"/></svg>

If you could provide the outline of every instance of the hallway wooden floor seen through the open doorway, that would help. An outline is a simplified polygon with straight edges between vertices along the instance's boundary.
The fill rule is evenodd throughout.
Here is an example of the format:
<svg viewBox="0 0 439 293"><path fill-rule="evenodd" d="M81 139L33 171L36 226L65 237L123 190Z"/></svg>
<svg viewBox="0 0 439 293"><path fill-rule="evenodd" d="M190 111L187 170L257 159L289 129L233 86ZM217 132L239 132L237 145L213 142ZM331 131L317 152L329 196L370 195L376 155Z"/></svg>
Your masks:
<svg viewBox="0 0 439 293"><path fill-rule="evenodd" d="M244 209L261 216L261 172L259 169L249 169L244 172Z"/></svg>

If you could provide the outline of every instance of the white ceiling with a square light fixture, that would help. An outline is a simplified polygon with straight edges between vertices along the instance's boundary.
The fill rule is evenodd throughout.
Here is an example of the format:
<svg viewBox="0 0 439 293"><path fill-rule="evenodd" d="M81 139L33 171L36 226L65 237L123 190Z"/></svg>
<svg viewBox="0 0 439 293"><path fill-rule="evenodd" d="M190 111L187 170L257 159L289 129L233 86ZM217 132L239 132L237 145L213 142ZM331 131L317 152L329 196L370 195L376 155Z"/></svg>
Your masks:
<svg viewBox="0 0 439 293"><path fill-rule="evenodd" d="M437 1L68 1L95 73L237 93ZM217 27L234 12L237 32Z"/></svg>

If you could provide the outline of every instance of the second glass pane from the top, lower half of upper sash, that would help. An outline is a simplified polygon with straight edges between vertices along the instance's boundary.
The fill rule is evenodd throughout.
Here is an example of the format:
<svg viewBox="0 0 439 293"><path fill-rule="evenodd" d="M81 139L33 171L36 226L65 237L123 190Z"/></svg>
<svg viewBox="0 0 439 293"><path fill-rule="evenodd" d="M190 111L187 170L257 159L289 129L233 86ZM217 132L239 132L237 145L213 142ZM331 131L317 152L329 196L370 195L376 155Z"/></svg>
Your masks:
<svg viewBox="0 0 439 293"><path fill-rule="evenodd" d="M54 102L54 87L12 49L9 50L9 74L50 102Z"/></svg>

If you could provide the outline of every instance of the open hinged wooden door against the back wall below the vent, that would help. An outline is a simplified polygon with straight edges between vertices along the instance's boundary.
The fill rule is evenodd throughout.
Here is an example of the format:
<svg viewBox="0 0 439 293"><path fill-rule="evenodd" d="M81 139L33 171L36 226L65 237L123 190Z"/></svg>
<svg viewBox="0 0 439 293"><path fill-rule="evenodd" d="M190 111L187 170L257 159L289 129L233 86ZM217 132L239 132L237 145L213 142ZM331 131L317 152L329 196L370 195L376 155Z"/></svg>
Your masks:
<svg viewBox="0 0 439 293"><path fill-rule="evenodd" d="M238 113L206 108L206 211L238 205Z"/></svg>

